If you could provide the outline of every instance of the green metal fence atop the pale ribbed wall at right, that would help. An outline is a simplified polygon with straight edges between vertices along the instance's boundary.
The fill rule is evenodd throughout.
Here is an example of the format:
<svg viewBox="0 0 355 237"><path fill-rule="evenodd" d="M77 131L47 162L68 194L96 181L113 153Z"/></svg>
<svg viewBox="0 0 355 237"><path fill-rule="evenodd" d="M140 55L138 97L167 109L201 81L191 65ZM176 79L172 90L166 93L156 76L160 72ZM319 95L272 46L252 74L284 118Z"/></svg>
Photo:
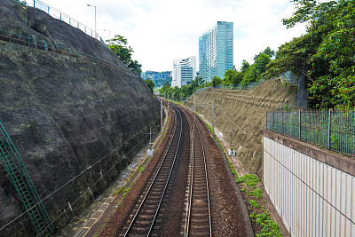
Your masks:
<svg viewBox="0 0 355 237"><path fill-rule="evenodd" d="M275 111L266 115L266 129L329 150L355 155L355 111Z"/></svg>

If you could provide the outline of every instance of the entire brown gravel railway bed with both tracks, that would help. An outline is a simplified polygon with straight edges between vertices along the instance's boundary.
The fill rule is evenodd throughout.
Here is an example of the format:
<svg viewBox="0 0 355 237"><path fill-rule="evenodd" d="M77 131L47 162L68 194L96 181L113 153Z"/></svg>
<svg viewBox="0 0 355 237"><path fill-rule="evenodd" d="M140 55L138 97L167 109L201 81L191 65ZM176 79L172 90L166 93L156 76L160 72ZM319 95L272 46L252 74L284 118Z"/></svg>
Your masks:
<svg viewBox="0 0 355 237"><path fill-rule="evenodd" d="M116 211L100 236L252 236L248 213L241 211L224 156L205 124L184 107L171 109L175 126L159 156L122 202L125 211Z"/></svg>

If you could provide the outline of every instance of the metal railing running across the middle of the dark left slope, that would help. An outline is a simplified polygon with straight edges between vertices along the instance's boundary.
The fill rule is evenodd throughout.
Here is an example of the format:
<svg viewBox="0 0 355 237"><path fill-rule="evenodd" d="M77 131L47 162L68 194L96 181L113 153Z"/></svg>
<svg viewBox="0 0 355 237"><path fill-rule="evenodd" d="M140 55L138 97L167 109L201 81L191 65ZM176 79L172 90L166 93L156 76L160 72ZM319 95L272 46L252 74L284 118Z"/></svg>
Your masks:
<svg viewBox="0 0 355 237"><path fill-rule="evenodd" d="M127 70L127 71L131 72L130 69L128 69L126 67L122 67L118 64L107 62L103 59L99 59L97 57L88 55L88 54L80 52L80 51L75 51L75 50L72 50L67 47L62 47L57 44L53 44L51 42L36 40L36 38L31 38L31 37L27 37L27 36L20 36L20 35L17 35L12 32L9 32L9 31L2 30L2 29L0 29L0 40L10 42L10 43L20 44L20 45L27 46L29 48L35 48L38 50L51 51L53 53L57 53L58 55L61 54L61 55L66 55L68 57L73 57L76 59L85 59L87 61L95 62L95 63L101 64L101 65L115 67L117 69L123 69L123 70Z"/></svg>

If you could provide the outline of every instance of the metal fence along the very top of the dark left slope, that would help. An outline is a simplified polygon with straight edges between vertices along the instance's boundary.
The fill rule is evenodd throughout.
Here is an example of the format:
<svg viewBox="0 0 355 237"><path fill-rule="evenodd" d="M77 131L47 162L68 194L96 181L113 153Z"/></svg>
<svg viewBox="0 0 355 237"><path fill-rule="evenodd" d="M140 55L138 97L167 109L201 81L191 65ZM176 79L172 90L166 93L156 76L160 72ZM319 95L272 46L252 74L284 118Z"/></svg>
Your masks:
<svg viewBox="0 0 355 237"><path fill-rule="evenodd" d="M24 2L26 2L26 5L28 5L28 6L35 7L36 9L39 9L39 10L42 10L43 12L48 13L51 17L53 17L55 19L62 20L74 28L81 29L86 35L99 40L99 42L105 44L105 46L107 47L106 43L101 38L101 36L99 36L98 32L96 32L95 30L93 30L91 28L88 28L83 23L79 22L78 20L71 18L66 13L60 12L59 10L51 7L49 4L44 4L43 2L38 1L38 0L33 0L33 1L25 0Z"/></svg>

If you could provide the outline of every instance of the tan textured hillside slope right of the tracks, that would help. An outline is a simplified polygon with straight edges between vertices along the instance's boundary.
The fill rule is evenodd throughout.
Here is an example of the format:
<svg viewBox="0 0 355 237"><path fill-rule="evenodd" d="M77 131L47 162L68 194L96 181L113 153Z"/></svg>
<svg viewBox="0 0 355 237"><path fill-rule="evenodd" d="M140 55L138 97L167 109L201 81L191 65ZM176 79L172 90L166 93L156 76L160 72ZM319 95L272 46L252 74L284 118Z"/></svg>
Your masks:
<svg viewBox="0 0 355 237"><path fill-rule="evenodd" d="M195 94L196 104L209 105L196 107L196 111L212 122L210 107L214 101L215 127L228 142L233 129L236 157L245 170L260 176L263 154L261 130L266 128L266 112L279 107L294 95L295 91L282 87L279 79L266 81L245 91L209 89ZM193 97L186 100L185 106L193 107Z"/></svg>

